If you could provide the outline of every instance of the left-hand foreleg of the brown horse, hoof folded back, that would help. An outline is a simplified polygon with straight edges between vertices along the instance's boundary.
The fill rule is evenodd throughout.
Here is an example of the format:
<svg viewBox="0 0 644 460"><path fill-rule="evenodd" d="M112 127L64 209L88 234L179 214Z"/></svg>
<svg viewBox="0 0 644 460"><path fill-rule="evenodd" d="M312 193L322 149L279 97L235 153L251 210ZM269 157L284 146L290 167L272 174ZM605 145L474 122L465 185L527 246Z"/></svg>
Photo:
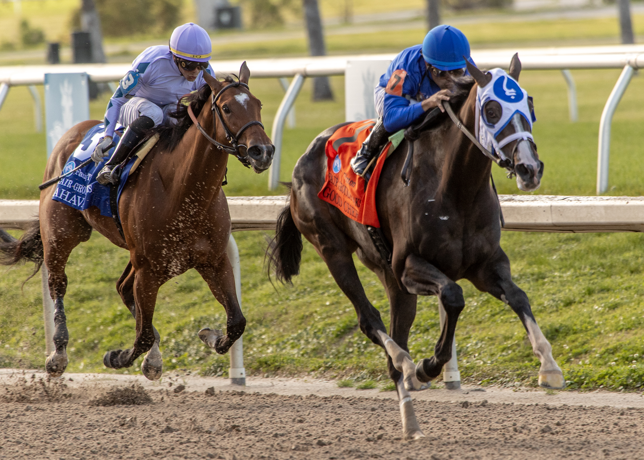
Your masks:
<svg viewBox="0 0 644 460"><path fill-rule="evenodd" d="M149 267L138 269L134 275L135 319L137 337L134 345L127 350L109 350L103 356L103 364L111 369L130 367L135 359L155 345L156 336L152 325L156 295L162 281Z"/></svg>

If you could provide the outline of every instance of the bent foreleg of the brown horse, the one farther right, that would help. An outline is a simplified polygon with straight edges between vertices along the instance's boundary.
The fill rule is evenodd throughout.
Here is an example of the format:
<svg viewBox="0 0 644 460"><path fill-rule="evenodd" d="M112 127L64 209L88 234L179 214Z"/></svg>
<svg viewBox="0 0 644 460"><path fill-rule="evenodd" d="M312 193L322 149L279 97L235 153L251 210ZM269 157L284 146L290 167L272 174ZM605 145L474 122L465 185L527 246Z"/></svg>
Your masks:
<svg viewBox="0 0 644 460"><path fill-rule="evenodd" d="M195 269L208 283L217 302L223 305L227 316L225 335L219 329L204 327L198 332L198 336L218 354L225 354L246 329L246 318L237 300L231 262L224 253L216 264L198 265Z"/></svg>

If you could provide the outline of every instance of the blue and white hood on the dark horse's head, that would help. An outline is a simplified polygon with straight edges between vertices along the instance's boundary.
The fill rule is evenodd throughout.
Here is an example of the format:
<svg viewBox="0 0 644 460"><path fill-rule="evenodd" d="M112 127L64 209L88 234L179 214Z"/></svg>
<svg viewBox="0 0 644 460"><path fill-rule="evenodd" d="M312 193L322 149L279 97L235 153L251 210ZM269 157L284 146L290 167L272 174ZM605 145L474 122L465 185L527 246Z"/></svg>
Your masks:
<svg viewBox="0 0 644 460"><path fill-rule="evenodd" d="M520 130L497 142L498 134L506 128L516 113L520 113L526 119L532 130L533 123L536 121L535 113L528 105L527 91L521 88L505 70L495 68L488 73L492 79L486 86L477 88L475 136L485 148L494 149L500 158L506 159L501 151L504 146L516 139L529 139L533 142L534 139L530 131ZM501 118L495 124L488 122L482 113L482 108L489 101L497 101L502 108Z"/></svg>

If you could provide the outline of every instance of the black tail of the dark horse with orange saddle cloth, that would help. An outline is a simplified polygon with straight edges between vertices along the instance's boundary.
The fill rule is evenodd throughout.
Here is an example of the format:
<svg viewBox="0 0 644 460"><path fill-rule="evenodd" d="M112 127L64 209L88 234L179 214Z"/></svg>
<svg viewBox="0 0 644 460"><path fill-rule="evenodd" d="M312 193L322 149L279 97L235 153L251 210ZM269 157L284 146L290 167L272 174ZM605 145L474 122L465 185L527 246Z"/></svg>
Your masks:
<svg viewBox="0 0 644 460"><path fill-rule="evenodd" d="M278 215L277 230L275 236L269 240L266 256L269 279L274 270L279 282L292 284L291 278L299 274L299 263L302 260L302 234L295 225L290 205L282 209Z"/></svg>

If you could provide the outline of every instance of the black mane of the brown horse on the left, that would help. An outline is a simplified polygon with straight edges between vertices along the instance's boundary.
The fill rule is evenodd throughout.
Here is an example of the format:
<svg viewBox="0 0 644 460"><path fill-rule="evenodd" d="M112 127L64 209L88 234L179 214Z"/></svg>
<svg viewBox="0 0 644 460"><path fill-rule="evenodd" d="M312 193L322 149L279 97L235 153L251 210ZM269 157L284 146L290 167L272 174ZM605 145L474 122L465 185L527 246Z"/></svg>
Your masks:
<svg viewBox="0 0 644 460"><path fill-rule="evenodd" d="M234 83L234 79L228 75L223 79L227 83ZM204 84L196 92L186 96L183 101L190 104L193 108L194 116L199 117L202 108L208 102L213 90L207 84ZM146 137L151 137L155 133L159 133L159 140L156 143L161 149L173 151L176 146L181 142L184 137L185 131L193 125L193 120L188 115L188 106L184 104L177 104L176 110L168 113L169 117L176 119L173 126L164 126L163 124L147 131Z"/></svg>

